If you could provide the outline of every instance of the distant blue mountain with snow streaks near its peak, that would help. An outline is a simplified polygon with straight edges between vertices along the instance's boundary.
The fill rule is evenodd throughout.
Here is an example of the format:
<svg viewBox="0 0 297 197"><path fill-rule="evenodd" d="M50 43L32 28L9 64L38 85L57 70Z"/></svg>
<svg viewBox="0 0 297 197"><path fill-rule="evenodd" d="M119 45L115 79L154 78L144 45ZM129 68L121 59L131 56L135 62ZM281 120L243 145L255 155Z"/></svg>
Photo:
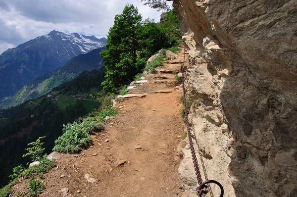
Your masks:
<svg viewBox="0 0 297 197"><path fill-rule="evenodd" d="M0 99L63 66L72 57L104 47L106 39L51 31L0 54Z"/></svg>

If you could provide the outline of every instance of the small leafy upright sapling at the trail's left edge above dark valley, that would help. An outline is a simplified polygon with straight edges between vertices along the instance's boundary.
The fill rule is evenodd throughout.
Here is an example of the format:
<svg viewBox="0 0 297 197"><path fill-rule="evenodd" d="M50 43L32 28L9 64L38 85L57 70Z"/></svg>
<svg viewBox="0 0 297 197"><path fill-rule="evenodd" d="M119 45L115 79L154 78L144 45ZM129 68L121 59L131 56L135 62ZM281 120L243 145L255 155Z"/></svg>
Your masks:
<svg viewBox="0 0 297 197"><path fill-rule="evenodd" d="M28 153L24 154L22 157L29 156L31 161L40 161L42 159L42 153L44 152L45 148L42 146L45 143L40 142L41 139L44 139L46 136L38 138L35 142L31 142L28 146L32 146L31 148L26 148Z"/></svg>

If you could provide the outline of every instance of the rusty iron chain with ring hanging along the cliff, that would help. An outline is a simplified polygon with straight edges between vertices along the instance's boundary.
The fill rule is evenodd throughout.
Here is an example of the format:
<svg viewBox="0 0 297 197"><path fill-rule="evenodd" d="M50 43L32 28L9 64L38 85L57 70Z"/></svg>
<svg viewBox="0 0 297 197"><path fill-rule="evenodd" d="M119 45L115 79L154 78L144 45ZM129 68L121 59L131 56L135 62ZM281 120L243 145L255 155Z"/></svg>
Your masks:
<svg viewBox="0 0 297 197"><path fill-rule="evenodd" d="M187 124L187 130L188 130L188 137L189 137L189 142L190 142L190 148L191 148L191 153L192 153L192 159L193 159L193 163L194 163L194 168L195 168L195 172L196 172L196 178L199 184L199 187L196 188L196 191L198 193L198 197L205 197L205 195L208 193L207 190L207 185L209 183L214 183L216 185L218 185L221 189L221 194L219 197L223 197L224 195L224 189L223 186L214 180L207 180L205 182L202 183L202 178L201 178L201 172L200 172L200 168L199 168L199 164L198 164L198 160L197 160L197 156L196 156L196 152L195 152L195 148L193 145L193 140L192 140L192 136L191 136L191 130L190 130L190 125L189 125L189 119L188 119L188 109L187 109L187 101L186 101L186 90L185 90L185 54L186 51L188 51L188 48L186 47L186 45L184 44L184 61L183 61L183 65L182 65L182 82L183 82L183 96L184 96L184 108L185 108L185 118L186 118L186 124Z"/></svg>

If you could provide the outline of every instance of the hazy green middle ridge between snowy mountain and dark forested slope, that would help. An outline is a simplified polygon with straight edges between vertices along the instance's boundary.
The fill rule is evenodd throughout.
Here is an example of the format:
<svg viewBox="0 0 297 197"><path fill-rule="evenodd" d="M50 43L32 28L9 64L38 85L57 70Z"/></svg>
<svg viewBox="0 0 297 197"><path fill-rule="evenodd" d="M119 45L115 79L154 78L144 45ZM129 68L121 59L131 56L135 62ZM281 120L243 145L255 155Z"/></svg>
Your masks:
<svg viewBox="0 0 297 197"><path fill-rule="evenodd" d="M80 54L67 61L61 68L51 71L42 77L27 83L13 96L0 99L0 108L16 106L29 99L35 99L47 94L51 89L71 81L84 71L103 68L102 57L99 55L105 47ZM102 77L103 78L103 77Z"/></svg>

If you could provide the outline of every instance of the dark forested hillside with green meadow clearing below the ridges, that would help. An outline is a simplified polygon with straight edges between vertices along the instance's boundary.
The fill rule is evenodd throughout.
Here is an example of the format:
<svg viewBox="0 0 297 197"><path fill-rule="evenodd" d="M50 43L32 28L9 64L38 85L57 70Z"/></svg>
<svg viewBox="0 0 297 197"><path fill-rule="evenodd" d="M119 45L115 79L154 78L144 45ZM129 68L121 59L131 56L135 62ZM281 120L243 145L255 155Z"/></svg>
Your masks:
<svg viewBox="0 0 297 197"><path fill-rule="evenodd" d="M104 69L84 72L47 96L0 111L0 186L7 184L13 167L29 161L21 157L28 143L47 136L45 148L51 152L54 140L62 135L63 124L98 106L89 94L100 91L103 80Z"/></svg>

